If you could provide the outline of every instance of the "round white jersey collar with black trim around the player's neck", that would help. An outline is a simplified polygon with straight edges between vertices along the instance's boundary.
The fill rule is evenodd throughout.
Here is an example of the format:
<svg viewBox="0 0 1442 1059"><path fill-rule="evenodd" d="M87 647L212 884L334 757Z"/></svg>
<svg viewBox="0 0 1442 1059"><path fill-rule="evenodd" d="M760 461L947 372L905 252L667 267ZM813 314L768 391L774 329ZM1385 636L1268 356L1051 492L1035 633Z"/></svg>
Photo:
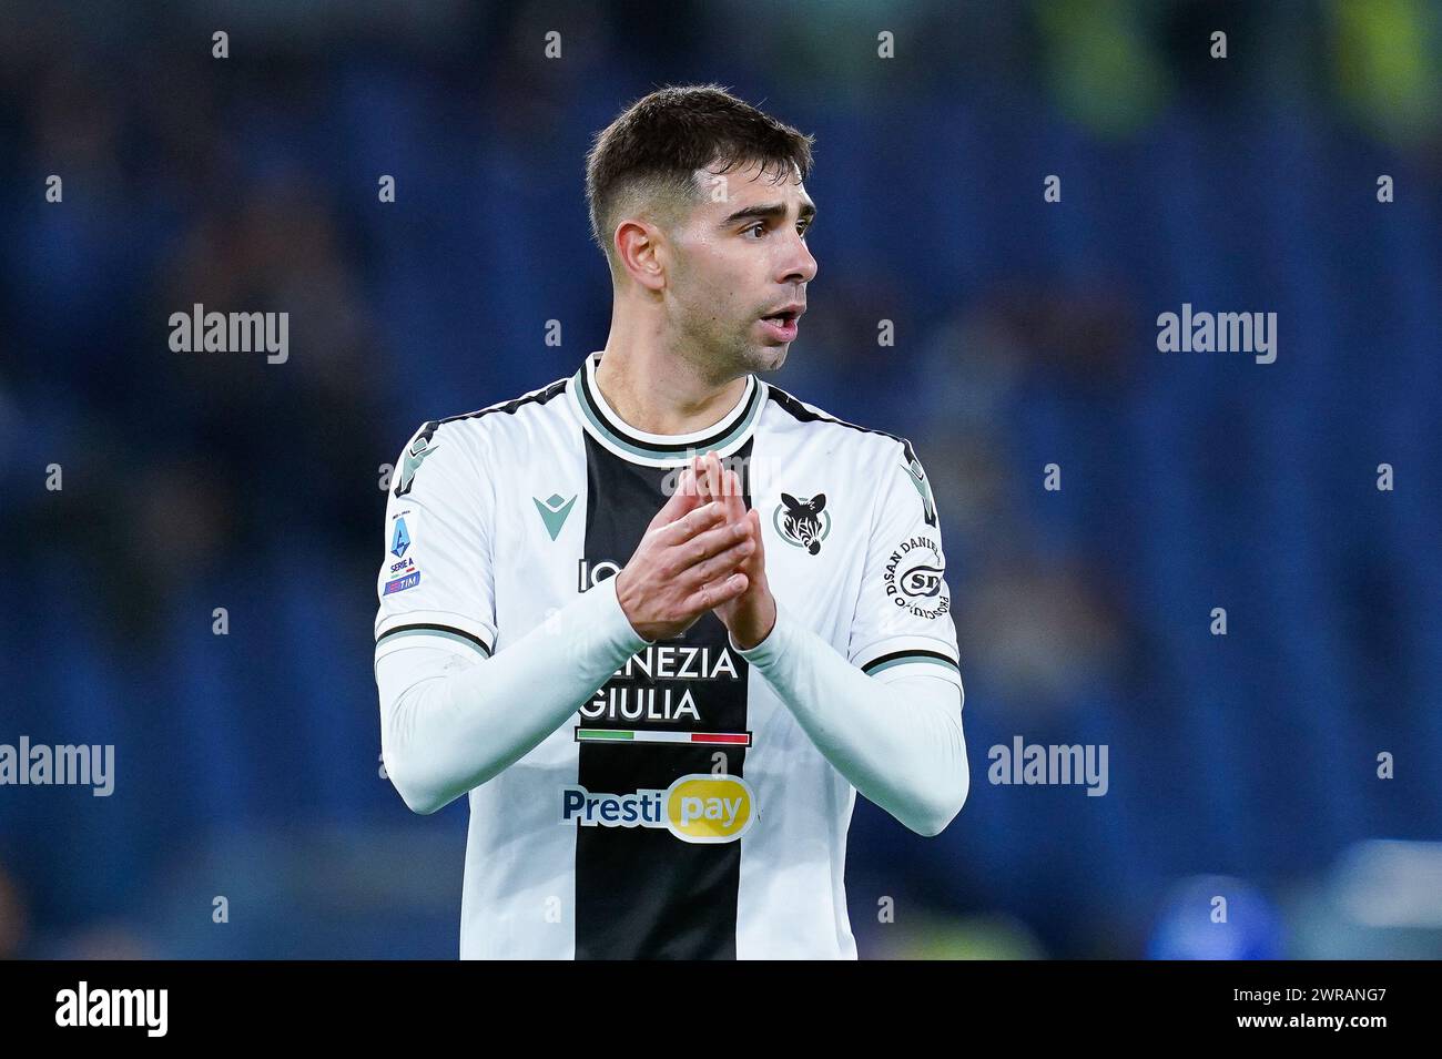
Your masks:
<svg viewBox="0 0 1442 1059"><path fill-rule="evenodd" d="M601 354L591 353L581 369L571 376L570 389L581 425L601 445L632 463L650 467L673 467L692 455L735 452L756 432L766 403L766 383L754 375L746 376L741 399L718 422L694 434L646 434L626 424L616 414L596 385L596 366Z"/></svg>

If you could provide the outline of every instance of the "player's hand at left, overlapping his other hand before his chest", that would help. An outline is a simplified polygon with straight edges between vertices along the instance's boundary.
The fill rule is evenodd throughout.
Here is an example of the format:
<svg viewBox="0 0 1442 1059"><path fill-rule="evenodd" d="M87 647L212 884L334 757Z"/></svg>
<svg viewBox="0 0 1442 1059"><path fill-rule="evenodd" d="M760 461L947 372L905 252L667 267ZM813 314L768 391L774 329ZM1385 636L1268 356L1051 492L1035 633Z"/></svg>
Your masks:
<svg viewBox="0 0 1442 1059"><path fill-rule="evenodd" d="M696 490L696 460L650 520L636 553L616 575L616 598L646 640L671 640L718 604L746 592L735 568L754 548L748 523L728 522L727 504Z"/></svg>

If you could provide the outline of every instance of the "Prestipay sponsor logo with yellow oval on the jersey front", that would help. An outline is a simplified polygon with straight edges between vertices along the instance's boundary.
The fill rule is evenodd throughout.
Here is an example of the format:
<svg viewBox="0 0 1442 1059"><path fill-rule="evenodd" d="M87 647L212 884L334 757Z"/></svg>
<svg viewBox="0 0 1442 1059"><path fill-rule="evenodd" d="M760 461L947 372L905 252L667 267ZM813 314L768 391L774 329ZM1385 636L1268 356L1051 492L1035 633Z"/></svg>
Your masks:
<svg viewBox="0 0 1442 1059"><path fill-rule="evenodd" d="M682 841L735 841L756 818L756 795L740 777L694 772L666 790L591 794L561 788L561 823L581 827L665 827Z"/></svg>

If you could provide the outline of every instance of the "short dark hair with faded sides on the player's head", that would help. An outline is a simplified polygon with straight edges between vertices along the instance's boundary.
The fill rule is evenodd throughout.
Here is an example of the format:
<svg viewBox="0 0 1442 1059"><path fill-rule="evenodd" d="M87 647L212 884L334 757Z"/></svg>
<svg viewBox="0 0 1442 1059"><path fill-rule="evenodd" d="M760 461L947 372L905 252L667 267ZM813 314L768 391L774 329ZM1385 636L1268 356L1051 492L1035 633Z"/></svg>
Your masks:
<svg viewBox="0 0 1442 1059"><path fill-rule="evenodd" d="M760 164L776 180L810 176L815 137L796 131L721 85L668 85L645 95L596 134L585 156L591 238L611 259L617 207L645 200L695 203L695 171ZM795 169L793 169L795 167Z"/></svg>

